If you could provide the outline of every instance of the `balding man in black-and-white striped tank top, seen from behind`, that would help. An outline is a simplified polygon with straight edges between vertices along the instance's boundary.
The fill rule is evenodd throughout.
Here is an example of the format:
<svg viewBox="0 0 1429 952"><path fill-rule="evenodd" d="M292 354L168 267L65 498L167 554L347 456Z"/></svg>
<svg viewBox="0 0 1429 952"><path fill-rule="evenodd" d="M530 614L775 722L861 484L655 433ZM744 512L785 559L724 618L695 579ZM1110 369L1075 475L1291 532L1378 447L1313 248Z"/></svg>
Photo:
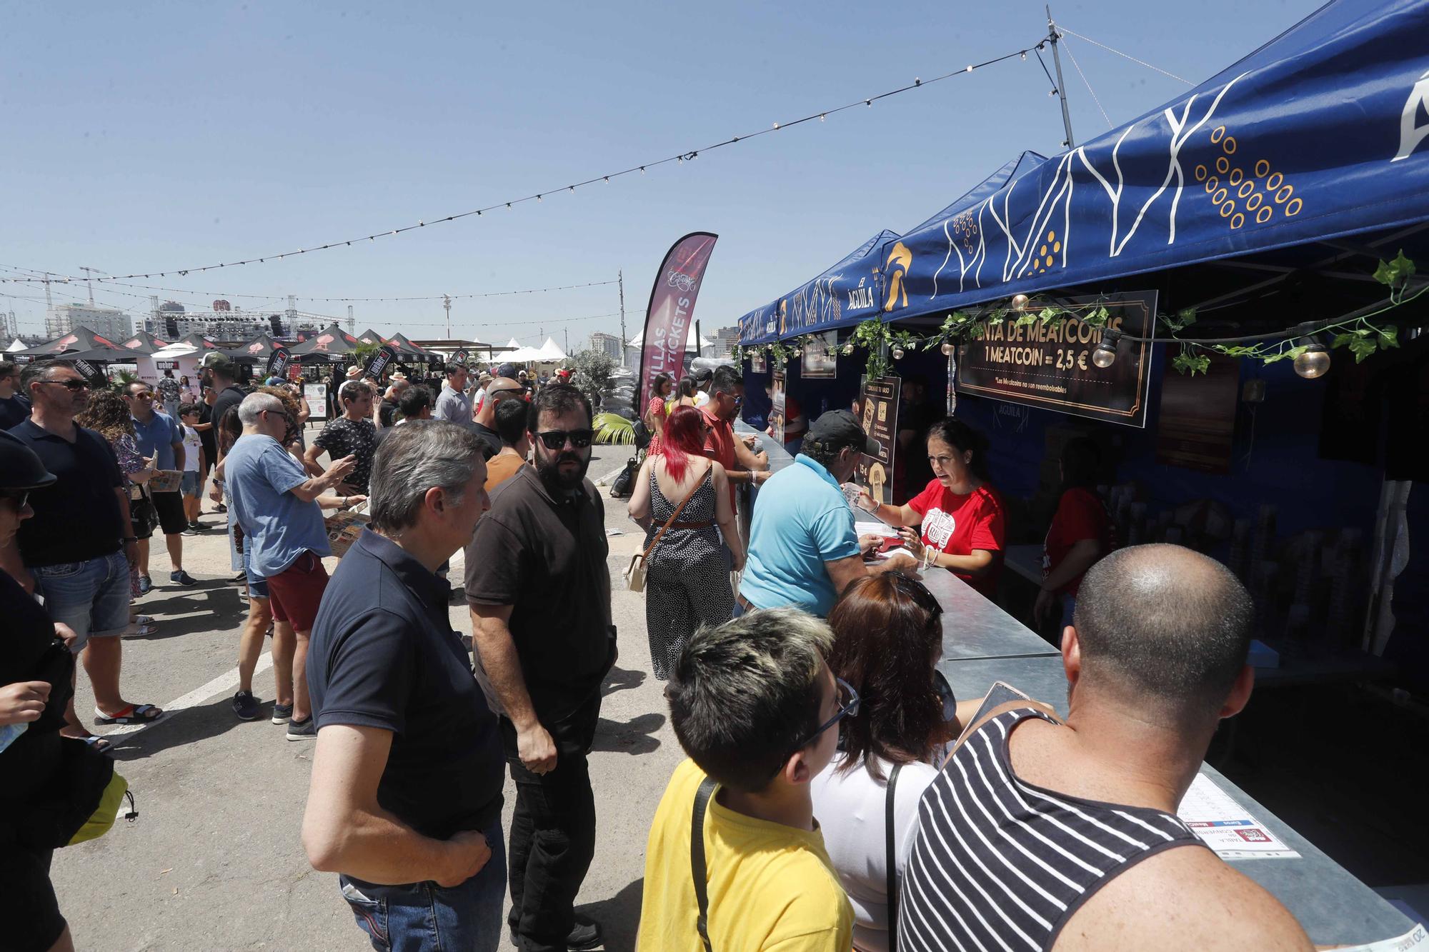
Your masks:
<svg viewBox="0 0 1429 952"><path fill-rule="evenodd" d="M1087 570L1062 636L1069 715L970 725L919 806L900 949L1309 949L1295 916L1176 818L1250 696L1250 596L1169 545Z"/></svg>

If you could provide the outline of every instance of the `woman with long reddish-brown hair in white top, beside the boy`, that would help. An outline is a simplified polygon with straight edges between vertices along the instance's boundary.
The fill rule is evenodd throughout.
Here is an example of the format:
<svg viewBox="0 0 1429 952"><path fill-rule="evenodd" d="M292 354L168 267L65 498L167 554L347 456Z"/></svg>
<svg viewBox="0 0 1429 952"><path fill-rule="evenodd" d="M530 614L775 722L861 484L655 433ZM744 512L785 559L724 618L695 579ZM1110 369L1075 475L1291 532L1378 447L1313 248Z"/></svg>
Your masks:
<svg viewBox="0 0 1429 952"><path fill-rule="evenodd" d="M919 582L886 572L850 585L829 613L829 668L859 693L845 718L840 753L812 780L813 812L829 859L853 903L853 948L889 949L887 785L893 785L897 876L913 846L917 802L937 778L943 749L962 716L935 669L943 655L942 606Z"/></svg>

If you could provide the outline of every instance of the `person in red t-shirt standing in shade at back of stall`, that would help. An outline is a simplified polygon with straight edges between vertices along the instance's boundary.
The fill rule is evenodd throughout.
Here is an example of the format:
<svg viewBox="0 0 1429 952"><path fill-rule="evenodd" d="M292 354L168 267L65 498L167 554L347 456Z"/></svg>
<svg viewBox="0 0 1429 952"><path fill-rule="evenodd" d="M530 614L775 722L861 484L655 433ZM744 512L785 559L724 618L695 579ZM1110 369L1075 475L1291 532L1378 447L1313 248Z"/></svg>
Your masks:
<svg viewBox="0 0 1429 952"><path fill-rule="evenodd" d="M1062 499L1042 543L1042 589L1032 606L1037 628L1072 623L1076 592L1092 565L1116 547L1112 516L1096 495L1102 455L1085 436L1062 447Z"/></svg>

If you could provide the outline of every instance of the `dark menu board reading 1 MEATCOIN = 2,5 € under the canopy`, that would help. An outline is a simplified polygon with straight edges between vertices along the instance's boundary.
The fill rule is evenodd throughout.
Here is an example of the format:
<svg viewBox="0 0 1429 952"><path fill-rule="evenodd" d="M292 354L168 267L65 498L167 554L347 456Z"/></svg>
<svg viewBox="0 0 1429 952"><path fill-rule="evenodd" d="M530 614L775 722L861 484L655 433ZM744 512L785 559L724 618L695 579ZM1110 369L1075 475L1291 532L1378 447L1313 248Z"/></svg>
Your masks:
<svg viewBox="0 0 1429 952"><path fill-rule="evenodd" d="M1153 290L1072 297L1066 303L1106 307L1106 326L1133 337L1149 339L1156 330ZM1152 344L1120 340L1112 366L1097 367L1092 354L1102 343L1102 329L1076 316L1086 309L1060 322L1025 323L1025 316L1035 317L1043 306L1033 300L1022 314L1009 312L997 323L985 322L980 333L957 349L957 389L1145 427Z"/></svg>

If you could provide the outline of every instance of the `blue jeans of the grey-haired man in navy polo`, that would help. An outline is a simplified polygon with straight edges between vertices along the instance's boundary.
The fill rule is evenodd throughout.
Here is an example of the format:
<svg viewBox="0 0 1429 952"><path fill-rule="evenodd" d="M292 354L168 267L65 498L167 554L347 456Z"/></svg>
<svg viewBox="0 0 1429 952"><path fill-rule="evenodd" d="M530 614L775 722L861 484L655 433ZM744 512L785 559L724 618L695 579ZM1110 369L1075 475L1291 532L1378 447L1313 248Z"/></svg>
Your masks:
<svg viewBox="0 0 1429 952"><path fill-rule="evenodd" d="M377 952L496 952L506 896L506 843L497 820L483 830L492 858L460 886L379 886L339 876L343 899Z"/></svg>

